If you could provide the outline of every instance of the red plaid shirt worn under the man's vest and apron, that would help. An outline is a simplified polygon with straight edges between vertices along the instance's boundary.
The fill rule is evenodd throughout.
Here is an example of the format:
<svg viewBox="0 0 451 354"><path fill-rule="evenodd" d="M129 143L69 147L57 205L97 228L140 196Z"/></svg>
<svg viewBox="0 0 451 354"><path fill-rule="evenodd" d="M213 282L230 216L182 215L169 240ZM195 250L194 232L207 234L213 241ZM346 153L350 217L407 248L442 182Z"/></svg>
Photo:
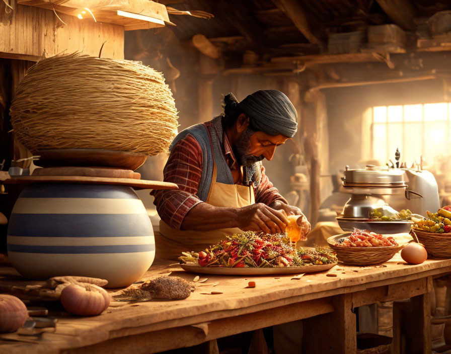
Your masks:
<svg viewBox="0 0 451 354"><path fill-rule="evenodd" d="M230 169L238 169L239 164L233 153L227 135L223 136L223 152L225 161ZM190 134L180 140L172 149L168 162L164 168L164 181L179 186L177 191L154 190L151 195L155 197L161 219L169 226L180 229L180 225L192 207L203 203L196 195L202 175L202 149L197 140ZM242 183L237 183L241 184ZM255 202L270 205L276 200L286 203L277 189L269 181L262 166L262 179L260 185L254 188Z"/></svg>

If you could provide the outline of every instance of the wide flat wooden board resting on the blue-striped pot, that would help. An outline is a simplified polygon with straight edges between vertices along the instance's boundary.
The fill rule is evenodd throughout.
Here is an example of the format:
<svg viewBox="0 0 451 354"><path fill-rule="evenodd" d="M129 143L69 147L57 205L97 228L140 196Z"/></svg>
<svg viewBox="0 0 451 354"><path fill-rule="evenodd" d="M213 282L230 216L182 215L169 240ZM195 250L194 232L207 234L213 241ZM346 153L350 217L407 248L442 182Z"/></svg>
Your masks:
<svg viewBox="0 0 451 354"><path fill-rule="evenodd" d="M175 183L169 182L89 176L18 176L5 180L3 183L6 185L28 185L30 183L82 183L90 185L129 186L135 189L179 189Z"/></svg>

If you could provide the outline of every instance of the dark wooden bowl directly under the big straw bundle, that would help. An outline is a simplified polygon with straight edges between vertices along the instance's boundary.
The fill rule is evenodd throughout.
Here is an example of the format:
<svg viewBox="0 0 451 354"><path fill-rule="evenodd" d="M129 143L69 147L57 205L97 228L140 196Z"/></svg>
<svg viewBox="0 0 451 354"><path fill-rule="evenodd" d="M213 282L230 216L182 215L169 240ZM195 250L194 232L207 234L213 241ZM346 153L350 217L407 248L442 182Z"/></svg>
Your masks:
<svg viewBox="0 0 451 354"><path fill-rule="evenodd" d="M147 156L127 151L105 149L43 149L33 151L40 156L36 166L107 166L135 170Z"/></svg>

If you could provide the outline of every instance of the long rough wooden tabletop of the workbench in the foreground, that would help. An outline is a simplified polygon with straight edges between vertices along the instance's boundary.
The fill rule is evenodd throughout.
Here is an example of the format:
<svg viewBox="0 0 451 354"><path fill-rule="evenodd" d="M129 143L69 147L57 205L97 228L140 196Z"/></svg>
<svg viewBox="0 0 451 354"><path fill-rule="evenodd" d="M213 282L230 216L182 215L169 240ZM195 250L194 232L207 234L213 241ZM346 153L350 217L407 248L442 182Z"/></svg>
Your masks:
<svg viewBox="0 0 451 354"><path fill-rule="evenodd" d="M396 254L394 258L380 266L338 265L330 271L306 274L300 279L292 279L293 276L200 275L201 280L208 278L207 281L202 284L193 283L195 291L185 300L113 302L102 315L95 317L75 317L61 311L56 314L58 317L56 329L46 329L40 336L1 334L0 352L12 354L78 352L77 348L82 349L87 346L91 346L97 352L107 352L106 346L102 343L115 340L115 347L119 348L121 342L128 340L129 344L132 344L132 338L142 333L146 334L145 339L142 340L155 341L151 352L157 352L186 345L186 343L178 342L178 335L175 333L179 328L192 330L191 334L187 332L190 338L197 336L197 342L202 342L205 338L209 338L208 332L211 327L209 324L214 323L215 320L240 318L233 322L239 328L246 322L246 315L255 316L257 313L262 313L261 316L264 316L264 313L267 313L266 317L270 318L261 319L260 324L283 323L294 318L290 317L295 316L292 312L296 310L293 304L296 306L304 303L312 304L303 308L303 317L299 317L306 318L332 312L334 309L331 305L322 300L335 295L395 286L448 272L451 272L451 259L428 259L414 266L406 264L399 254ZM20 278L11 280L11 275L14 274L15 271L11 268L0 268L1 291L5 292L12 284L23 284L24 281ZM331 274L335 274L336 277L331 277ZM188 281L192 281L196 276L180 270L178 265L154 263L141 280L161 275L182 277ZM256 282L255 288L247 288L249 280ZM211 292L219 294L211 295ZM405 298L408 297L409 294L405 294ZM271 309L276 312L270 312ZM260 328L258 325L259 323L256 323L254 327ZM245 326L243 331L250 330L249 328ZM159 333L159 335L152 337L149 333ZM172 336L171 343L168 343L168 338L165 339L163 336L165 333ZM210 336L213 336L212 332ZM138 350L138 347L134 349L137 350L135 352L149 352L148 348L145 351ZM108 350L116 352L111 348ZM117 352L120 350L118 349Z"/></svg>

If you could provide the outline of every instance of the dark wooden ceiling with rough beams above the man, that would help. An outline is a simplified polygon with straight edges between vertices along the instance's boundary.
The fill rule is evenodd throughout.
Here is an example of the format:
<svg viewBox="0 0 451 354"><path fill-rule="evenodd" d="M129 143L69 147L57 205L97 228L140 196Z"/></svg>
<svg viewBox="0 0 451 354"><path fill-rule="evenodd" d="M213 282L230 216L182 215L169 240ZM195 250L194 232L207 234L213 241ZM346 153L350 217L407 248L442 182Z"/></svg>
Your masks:
<svg viewBox="0 0 451 354"><path fill-rule="evenodd" d="M451 26L449 0L157 1L177 10L202 10L214 16L210 20L170 16L176 26L165 29L173 36L165 43L190 44L194 35L204 35L221 52L225 74L290 74L315 65L368 62L410 70L416 69L416 61L422 60L425 51L451 50L451 27L449 32L433 34L429 20L437 12L450 11ZM405 35L401 47L370 46L368 30L389 24L397 25ZM362 44L348 52L332 51L331 38L348 33L362 33ZM161 47L164 51L165 45ZM248 51L258 58L252 64L244 62ZM173 60L174 52L167 52ZM409 57L412 53L415 60Z"/></svg>

